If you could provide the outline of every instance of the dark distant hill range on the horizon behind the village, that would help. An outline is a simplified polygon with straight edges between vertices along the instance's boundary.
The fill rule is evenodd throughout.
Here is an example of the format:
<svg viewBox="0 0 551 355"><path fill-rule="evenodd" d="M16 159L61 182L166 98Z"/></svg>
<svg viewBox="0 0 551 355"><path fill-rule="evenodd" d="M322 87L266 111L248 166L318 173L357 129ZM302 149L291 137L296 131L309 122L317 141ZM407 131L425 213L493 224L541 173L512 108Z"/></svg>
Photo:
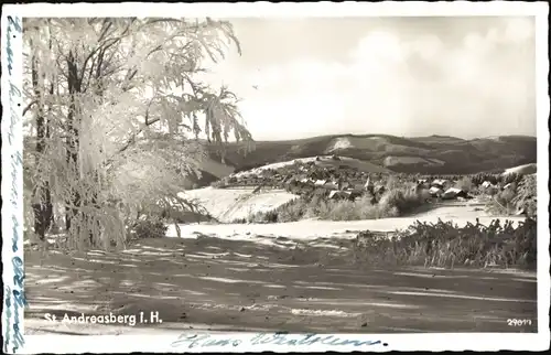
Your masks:
<svg viewBox="0 0 551 355"><path fill-rule="evenodd" d="M236 172L299 158L337 154L379 165L393 172L469 174L500 171L536 163L536 137L500 136L461 139L449 136L395 137L338 135L287 141L255 142L255 150L239 152L242 144L226 148L225 164ZM212 149L210 158L220 161Z"/></svg>

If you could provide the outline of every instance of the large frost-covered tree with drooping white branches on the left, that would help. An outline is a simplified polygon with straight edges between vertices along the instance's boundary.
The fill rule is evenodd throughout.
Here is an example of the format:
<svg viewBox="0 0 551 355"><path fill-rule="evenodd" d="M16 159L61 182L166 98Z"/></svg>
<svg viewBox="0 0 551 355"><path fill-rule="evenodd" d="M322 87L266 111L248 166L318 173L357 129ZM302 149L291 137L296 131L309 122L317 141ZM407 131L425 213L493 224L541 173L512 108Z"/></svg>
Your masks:
<svg viewBox="0 0 551 355"><path fill-rule="evenodd" d="M72 247L126 240L137 212L177 196L206 157L201 135L251 141L228 88L202 74L231 49L212 19L25 19L25 202L44 239L63 214ZM61 207L61 209L60 209Z"/></svg>

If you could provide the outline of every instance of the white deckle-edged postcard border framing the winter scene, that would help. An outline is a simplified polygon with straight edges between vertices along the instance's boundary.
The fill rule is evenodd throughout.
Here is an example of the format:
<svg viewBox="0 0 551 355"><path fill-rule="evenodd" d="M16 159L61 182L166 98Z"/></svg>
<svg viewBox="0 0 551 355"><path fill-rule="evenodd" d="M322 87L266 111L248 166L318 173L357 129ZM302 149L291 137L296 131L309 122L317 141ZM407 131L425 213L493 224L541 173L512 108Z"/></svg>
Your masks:
<svg viewBox="0 0 551 355"><path fill-rule="evenodd" d="M538 117L538 214L541 220L549 219L549 95L548 95L548 13L547 2L317 2L317 3L30 3L2 6L2 262L4 271L2 279L6 287L10 287L10 292L18 290L18 282L13 278L17 273L17 257L22 259L22 196L7 198L13 192L22 192L22 170L8 162L13 162L13 157L22 152L22 128L21 128L21 106L17 106L17 90L11 90L12 85L21 90L22 85L22 41L21 36L10 39L10 46L13 52L12 75L9 75L8 41L7 32L8 17L160 17L170 14L174 17L177 12L185 13L186 17L210 17L244 18L244 17L389 17L389 15L534 15L537 33L537 117ZM13 28L13 25L12 25ZM17 35L17 33L13 33ZM15 93L15 94L14 94ZM15 96L14 96L15 95ZM22 103L21 103L22 105ZM15 122L10 128L10 122ZM19 125L19 126L18 126ZM9 135L12 135L10 143ZM15 155L13 155L15 154ZM17 160L17 159L15 159ZM4 163L6 162L6 163ZM13 200L13 201L11 201ZM14 230L19 234L12 243ZM306 335L287 334L263 341L258 341L257 333L210 333L209 338L216 340L218 345L205 346L199 338L205 335L197 335L195 342L188 340L180 342L175 346L177 337L170 335L120 335L120 336L69 336L69 335L28 335L24 344L18 349L19 353L128 353L128 352L325 352L325 351L542 351L549 348L549 306L550 306L550 257L549 250L549 228L542 222L538 225L538 333L537 334L510 334L510 333L442 333L442 334L316 334L321 337L312 342L312 337ZM545 237L548 236L548 237ZM13 251L13 245L18 247ZM14 261L13 261L14 260ZM10 293L12 294L12 293ZM8 294L8 295L10 295ZM4 311L2 313L2 329L12 332L13 319L8 320ZM11 297L12 311L13 297ZM15 299L17 301L17 299ZM20 318L20 332L23 334L23 309L15 310ZM185 332L190 336L191 332ZM256 337L257 336L257 337ZM257 343L255 344L255 338ZM338 341L338 340L341 341ZM205 338L206 340L206 338ZM291 342L293 341L294 342ZM301 343L302 341L302 343ZM348 343L343 343L343 342ZM363 342L356 343L353 341ZM339 342L348 345L339 345ZM372 342L372 343L369 343ZM190 345L194 344L190 347ZM202 345L203 344L203 345ZM310 345L309 345L310 344ZM358 345L359 344L359 345ZM385 344L387 344L385 346ZM2 344L3 345L3 344ZM4 352L12 353L12 345Z"/></svg>

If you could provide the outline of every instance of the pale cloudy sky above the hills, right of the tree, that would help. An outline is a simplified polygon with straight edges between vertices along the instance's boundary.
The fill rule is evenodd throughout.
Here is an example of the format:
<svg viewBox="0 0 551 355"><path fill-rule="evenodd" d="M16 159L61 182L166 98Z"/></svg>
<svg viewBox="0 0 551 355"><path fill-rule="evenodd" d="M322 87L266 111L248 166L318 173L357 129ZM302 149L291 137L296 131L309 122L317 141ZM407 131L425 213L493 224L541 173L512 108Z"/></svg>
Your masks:
<svg viewBox="0 0 551 355"><path fill-rule="evenodd" d="M536 136L532 18L229 20L242 55L209 80L255 140Z"/></svg>

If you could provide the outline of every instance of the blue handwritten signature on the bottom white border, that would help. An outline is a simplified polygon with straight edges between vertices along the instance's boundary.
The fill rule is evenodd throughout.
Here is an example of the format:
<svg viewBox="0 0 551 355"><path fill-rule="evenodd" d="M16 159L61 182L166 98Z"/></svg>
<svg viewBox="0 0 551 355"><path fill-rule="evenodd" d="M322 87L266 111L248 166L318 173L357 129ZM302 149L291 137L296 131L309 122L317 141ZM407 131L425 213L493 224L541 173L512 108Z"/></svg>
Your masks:
<svg viewBox="0 0 551 355"><path fill-rule="evenodd" d="M381 341L359 341L359 340L347 340L345 337L337 337L335 335L318 335L318 334L287 334L287 333L259 333L250 340L250 345L287 345L287 346L301 346L301 345L313 345L322 344L327 346L345 346L352 345L355 347L359 346L372 346L372 345L387 345L381 343ZM208 346L239 346L242 341L231 337L223 337L212 334L188 334L184 333L179 336L177 340L172 342L172 347L187 348L194 347L208 347Z"/></svg>

